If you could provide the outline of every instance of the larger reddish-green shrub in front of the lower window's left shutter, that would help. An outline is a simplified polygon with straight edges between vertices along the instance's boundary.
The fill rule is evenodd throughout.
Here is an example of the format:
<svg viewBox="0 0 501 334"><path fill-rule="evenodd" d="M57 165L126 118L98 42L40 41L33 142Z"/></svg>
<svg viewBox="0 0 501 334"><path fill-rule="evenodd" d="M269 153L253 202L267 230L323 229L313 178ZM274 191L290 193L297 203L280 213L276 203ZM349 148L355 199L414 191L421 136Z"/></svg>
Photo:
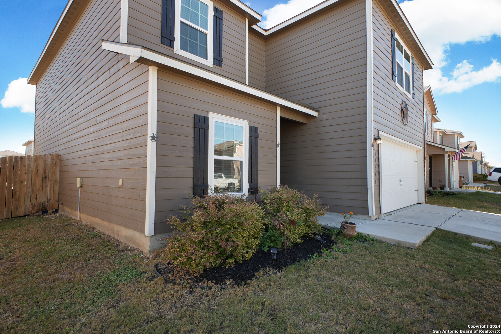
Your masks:
<svg viewBox="0 0 501 334"><path fill-rule="evenodd" d="M263 209L245 196L209 195L193 198L184 220L170 217L175 232L166 239L165 258L180 271L230 266L256 251L263 228Z"/></svg>

